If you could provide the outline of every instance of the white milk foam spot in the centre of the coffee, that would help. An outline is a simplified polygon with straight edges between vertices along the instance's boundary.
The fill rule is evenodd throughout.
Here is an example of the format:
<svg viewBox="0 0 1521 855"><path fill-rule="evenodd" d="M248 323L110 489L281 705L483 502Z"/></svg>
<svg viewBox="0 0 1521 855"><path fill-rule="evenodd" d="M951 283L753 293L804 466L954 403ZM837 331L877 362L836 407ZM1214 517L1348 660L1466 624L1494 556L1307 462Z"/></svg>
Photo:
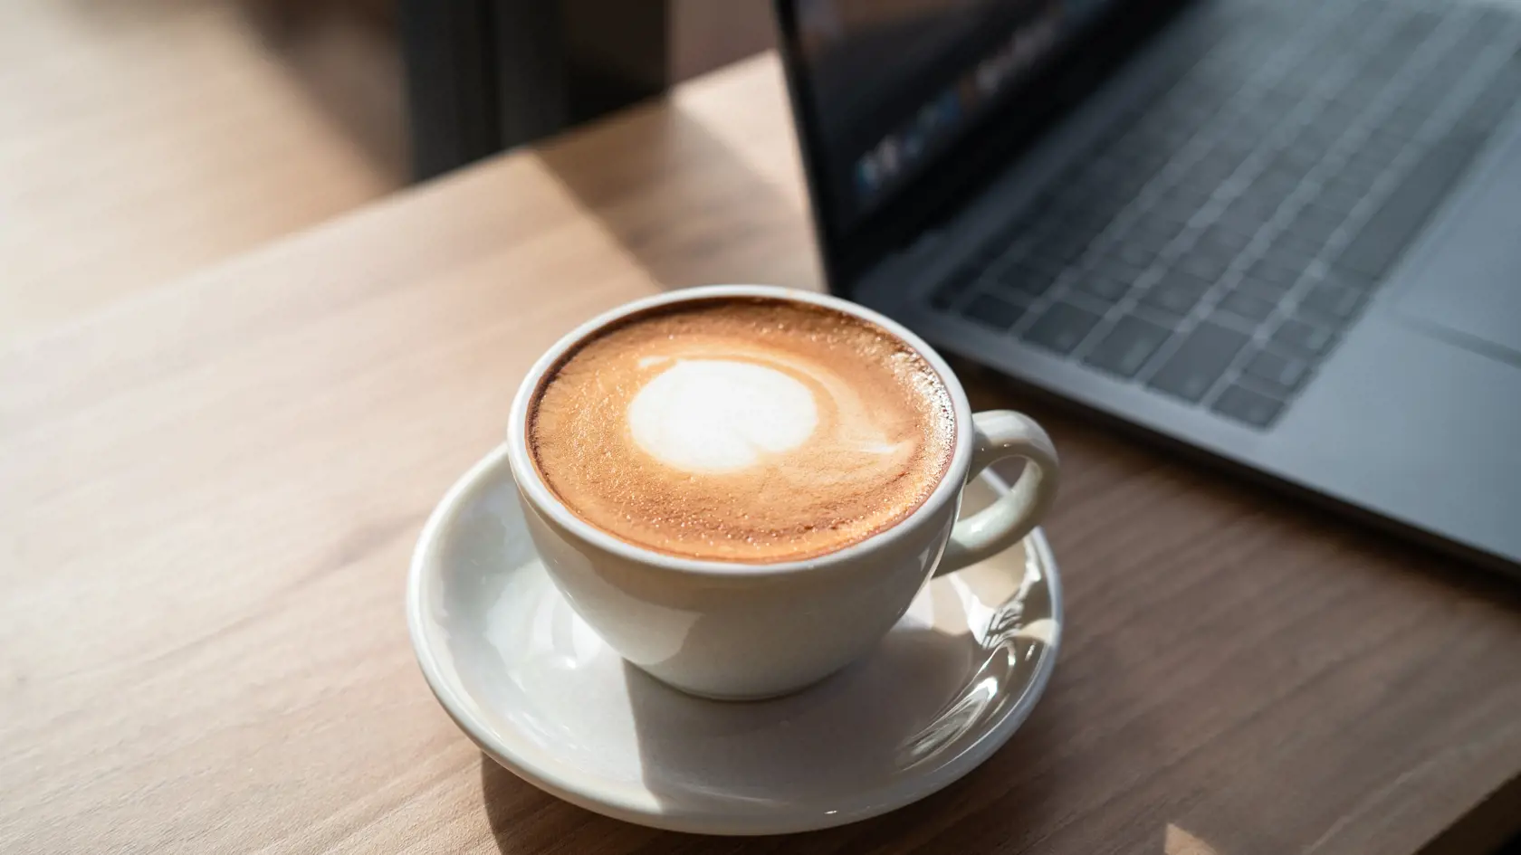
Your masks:
<svg viewBox="0 0 1521 855"><path fill-rule="evenodd" d="M814 394L783 371L729 359L680 359L628 405L645 453L683 472L730 472L803 444Z"/></svg>

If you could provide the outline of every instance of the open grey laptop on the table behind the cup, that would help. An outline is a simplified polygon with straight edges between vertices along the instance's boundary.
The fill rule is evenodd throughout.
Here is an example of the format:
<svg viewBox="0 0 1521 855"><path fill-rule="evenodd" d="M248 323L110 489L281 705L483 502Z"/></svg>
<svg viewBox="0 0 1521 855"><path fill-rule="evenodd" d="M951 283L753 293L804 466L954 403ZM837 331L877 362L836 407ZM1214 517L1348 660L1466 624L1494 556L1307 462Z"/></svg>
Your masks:
<svg viewBox="0 0 1521 855"><path fill-rule="evenodd" d="M1521 567L1521 3L777 0L829 288Z"/></svg>

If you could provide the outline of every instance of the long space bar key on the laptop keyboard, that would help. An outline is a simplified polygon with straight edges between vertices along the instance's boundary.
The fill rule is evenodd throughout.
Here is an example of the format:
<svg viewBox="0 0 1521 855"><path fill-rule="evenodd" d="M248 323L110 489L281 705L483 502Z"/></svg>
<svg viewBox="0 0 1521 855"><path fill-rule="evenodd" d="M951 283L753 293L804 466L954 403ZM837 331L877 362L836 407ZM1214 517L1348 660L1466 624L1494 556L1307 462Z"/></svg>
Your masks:
<svg viewBox="0 0 1521 855"><path fill-rule="evenodd" d="M1483 141L1481 135L1453 134L1431 148L1363 225L1335 266L1383 278L1468 169Z"/></svg>

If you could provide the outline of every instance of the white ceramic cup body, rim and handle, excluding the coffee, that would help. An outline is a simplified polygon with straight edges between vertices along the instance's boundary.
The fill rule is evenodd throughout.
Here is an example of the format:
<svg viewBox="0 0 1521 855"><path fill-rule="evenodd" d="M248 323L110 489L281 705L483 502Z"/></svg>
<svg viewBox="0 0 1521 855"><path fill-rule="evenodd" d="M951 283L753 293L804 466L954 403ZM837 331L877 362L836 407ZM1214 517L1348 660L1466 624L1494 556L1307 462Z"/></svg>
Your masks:
<svg viewBox="0 0 1521 855"><path fill-rule="evenodd" d="M578 342L656 306L715 297L814 303L900 338L940 374L955 408L955 450L916 511L865 540L800 561L745 564L665 555L593 526L555 497L532 464L528 411L548 371ZM967 479L1024 458L1008 494L957 520ZM750 700L802 689L867 653L932 577L1024 539L1051 507L1057 456L1045 431L1011 411L972 414L951 367L900 324L853 303L767 286L709 286L628 303L575 329L529 370L513 402L508 459L528 531L570 607L624 659L677 689Z"/></svg>

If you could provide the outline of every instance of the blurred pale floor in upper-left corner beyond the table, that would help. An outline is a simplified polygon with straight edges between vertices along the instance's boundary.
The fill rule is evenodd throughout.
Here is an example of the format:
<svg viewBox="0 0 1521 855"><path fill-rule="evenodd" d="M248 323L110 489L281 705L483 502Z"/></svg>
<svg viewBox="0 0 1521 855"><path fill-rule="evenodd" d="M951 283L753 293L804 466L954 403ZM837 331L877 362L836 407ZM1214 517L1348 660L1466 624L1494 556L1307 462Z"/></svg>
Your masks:
<svg viewBox="0 0 1521 855"><path fill-rule="evenodd" d="M406 183L394 49L266 5L0 3L0 341Z"/></svg>

